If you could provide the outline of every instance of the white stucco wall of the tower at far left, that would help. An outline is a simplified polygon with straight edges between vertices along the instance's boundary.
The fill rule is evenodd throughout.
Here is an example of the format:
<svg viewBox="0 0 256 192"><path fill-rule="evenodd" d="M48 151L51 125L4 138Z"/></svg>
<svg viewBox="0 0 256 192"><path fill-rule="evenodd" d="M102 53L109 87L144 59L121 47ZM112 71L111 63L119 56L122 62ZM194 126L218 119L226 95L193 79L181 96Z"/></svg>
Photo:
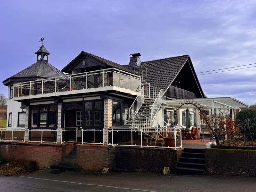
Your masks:
<svg viewBox="0 0 256 192"><path fill-rule="evenodd" d="M13 98L10 99L10 87L13 84L17 84L17 83L20 83L20 82L11 82L8 85L7 123L6 123L7 128L17 128L17 125L18 125L18 112L22 112L22 110L20 108L21 102L14 101ZM8 126L8 123L9 123L9 113L12 113L12 126L10 126L10 127Z"/></svg>

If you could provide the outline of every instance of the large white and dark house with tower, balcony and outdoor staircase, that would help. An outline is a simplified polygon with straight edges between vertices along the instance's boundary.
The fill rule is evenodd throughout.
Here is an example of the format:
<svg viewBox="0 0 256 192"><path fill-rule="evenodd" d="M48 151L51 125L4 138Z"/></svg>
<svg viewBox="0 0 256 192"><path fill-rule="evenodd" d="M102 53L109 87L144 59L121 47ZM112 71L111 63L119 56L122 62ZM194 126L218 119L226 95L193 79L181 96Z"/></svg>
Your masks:
<svg viewBox="0 0 256 192"><path fill-rule="evenodd" d="M44 45L35 53L36 63L3 82L9 87L7 128L12 134L6 139L6 129L1 140L60 146L61 155L48 164L58 163L75 146L81 153L84 146L92 150L90 144L172 148L178 153L186 108L192 124L202 124L192 106L176 110L180 101L198 100L215 113L222 106L224 111L248 107L233 98L207 98L189 55L141 61L140 53L134 53L129 64L120 65L82 51L59 71L48 62Z"/></svg>

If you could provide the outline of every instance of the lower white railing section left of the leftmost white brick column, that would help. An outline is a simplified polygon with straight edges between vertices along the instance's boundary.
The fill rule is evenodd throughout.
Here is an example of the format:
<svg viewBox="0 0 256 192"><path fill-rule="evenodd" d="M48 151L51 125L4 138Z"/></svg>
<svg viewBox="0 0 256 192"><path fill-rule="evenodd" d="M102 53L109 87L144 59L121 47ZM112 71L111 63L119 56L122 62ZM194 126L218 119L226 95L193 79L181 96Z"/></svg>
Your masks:
<svg viewBox="0 0 256 192"><path fill-rule="evenodd" d="M25 141L25 129L0 129L0 141Z"/></svg>

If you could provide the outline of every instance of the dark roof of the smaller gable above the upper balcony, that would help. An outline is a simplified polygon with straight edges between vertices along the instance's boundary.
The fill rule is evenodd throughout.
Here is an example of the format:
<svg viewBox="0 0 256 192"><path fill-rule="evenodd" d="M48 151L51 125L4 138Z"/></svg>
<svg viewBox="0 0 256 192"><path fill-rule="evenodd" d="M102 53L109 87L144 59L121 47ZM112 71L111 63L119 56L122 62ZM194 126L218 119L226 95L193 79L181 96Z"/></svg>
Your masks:
<svg viewBox="0 0 256 192"><path fill-rule="evenodd" d="M109 65L109 66L111 66L111 67L113 67L113 68L117 68L117 69L120 69L120 70L124 70L124 71L130 72L130 73L134 73L133 70L131 70L131 69L127 68L127 67L124 67L124 65L117 64L117 63L115 63L115 62L112 62L112 61L110 61L110 60L101 58L101 57L99 57L99 56L97 56L97 55L93 55L93 54L88 53L88 52L85 52L85 51L82 51L79 55L77 55L77 57L76 57L75 59L73 59L70 63L68 63L68 65L66 65L61 71L67 72L66 69L67 69L67 68L70 66L70 64L71 64L73 61L75 61L81 54L88 55L88 56L90 56L90 57L92 57L92 58L95 58L95 59L97 59L97 60L100 60L100 61L102 61L104 64L107 64L107 65Z"/></svg>

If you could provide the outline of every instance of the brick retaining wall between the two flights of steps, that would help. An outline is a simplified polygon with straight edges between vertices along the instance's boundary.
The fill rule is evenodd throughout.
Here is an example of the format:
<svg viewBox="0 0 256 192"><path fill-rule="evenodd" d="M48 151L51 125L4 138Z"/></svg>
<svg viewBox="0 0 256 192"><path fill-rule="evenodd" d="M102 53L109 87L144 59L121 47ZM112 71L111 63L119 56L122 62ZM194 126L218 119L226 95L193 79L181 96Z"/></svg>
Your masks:
<svg viewBox="0 0 256 192"><path fill-rule="evenodd" d="M102 171L104 167L122 171L162 172L174 170L182 149L108 147L77 145L77 163L85 170Z"/></svg>

